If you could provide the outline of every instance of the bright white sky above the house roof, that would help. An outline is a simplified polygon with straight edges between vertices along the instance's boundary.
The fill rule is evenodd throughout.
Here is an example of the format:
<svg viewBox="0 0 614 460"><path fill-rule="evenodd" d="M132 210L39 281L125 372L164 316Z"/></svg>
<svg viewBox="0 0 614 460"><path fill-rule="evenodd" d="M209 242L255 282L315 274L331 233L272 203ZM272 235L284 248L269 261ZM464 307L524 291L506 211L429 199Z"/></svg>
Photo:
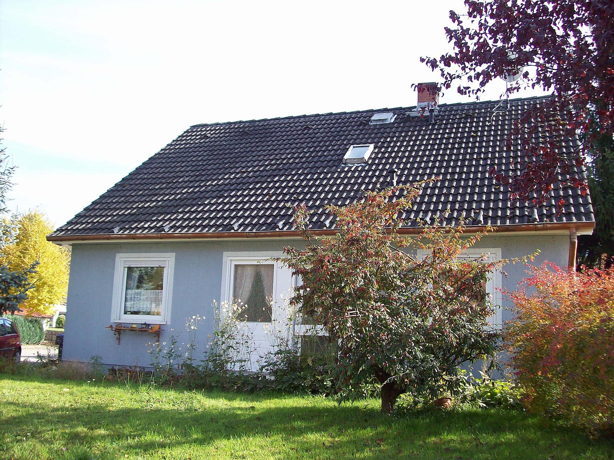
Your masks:
<svg viewBox="0 0 614 460"><path fill-rule="evenodd" d="M59 226L196 123L415 105L412 83L440 81L419 57L451 50L450 9L462 0L0 0L10 206Z"/></svg>

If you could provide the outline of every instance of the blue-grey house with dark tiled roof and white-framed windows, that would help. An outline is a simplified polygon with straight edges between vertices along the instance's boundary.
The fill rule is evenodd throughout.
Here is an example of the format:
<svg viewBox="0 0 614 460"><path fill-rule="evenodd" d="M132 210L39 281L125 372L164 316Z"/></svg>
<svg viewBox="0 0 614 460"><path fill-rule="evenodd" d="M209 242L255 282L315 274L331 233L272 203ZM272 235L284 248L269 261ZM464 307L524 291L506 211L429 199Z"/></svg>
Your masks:
<svg viewBox="0 0 614 460"><path fill-rule="evenodd" d="M419 105L190 126L48 237L72 245L64 359L99 355L109 365L147 366L151 334L117 337L107 326L159 324L161 343L170 334L181 343L185 319L198 313L206 318L204 340L214 327L211 302L232 298L247 299L255 354L265 353L271 349L265 325L284 315L265 297L279 299L295 282L269 258L304 244L287 204L305 203L311 226L330 235L335 222L325 205L356 201L364 190L394 181L440 177L405 218L457 224L462 217L468 232L494 226L472 255L515 258L540 250L536 263L573 264L577 235L594 228L589 194L565 188L564 212L557 213L554 199L540 206L511 202L507 186L489 174L493 166L518 170L519 151L505 151L505 138L524 110L548 97L438 106L434 100L424 117ZM538 134L544 142L550 136L543 128ZM577 147L577 139L565 140L562 161ZM569 167L585 177L572 161ZM510 317L511 306L497 288L514 289L524 275L521 264L505 270L507 277L494 273L486 286L501 305L494 324Z"/></svg>

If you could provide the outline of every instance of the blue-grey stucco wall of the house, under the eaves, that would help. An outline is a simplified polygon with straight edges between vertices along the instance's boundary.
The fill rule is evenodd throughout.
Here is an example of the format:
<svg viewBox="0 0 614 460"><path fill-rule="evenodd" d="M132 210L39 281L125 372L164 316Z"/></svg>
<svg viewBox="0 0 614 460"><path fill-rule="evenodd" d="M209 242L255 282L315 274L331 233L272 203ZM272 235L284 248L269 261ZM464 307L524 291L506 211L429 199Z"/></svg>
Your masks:
<svg viewBox="0 0 614 460"><path fill-rule="evenodd" d="M225 251L280 251L286 245L301 245L300 240L207 240L197 242L153 243L79 243L72 246L71 273L68 286L63 359L88 361L99 355L107 365L149 366L147 343L153 336L124 332L118 345L105 326L111 324L111 304L117 253L175 253L173 299L170 323L161 326L160 342L170 334L187 342L185 318L199 313L204 316L198 336L205 341L213 329L211 303L219 301L222 291L222 258ZM567 264L569 236L488 236L476 247L501 248L503 258L527 255L539 249L535 264L548 259L559 266ZM514 289L524 276L522 264L505 267L503 288ZM504 301L503 306L510 307ZM511 313L503 313L503 320ZM171 332L171 329L174 329Z"/></svg>

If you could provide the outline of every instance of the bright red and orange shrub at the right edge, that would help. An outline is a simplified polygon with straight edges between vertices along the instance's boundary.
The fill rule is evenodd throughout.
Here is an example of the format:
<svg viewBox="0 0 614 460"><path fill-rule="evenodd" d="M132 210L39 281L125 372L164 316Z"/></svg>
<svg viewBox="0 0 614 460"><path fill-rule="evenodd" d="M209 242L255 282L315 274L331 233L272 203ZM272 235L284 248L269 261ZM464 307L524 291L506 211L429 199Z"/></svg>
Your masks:
<svg viewBox="0 0 614 460"><path fill-rule="evenodd" d="M545 263L508 294L511 367L527 410L567 424L612 428L614 271L581 273Z"/></svg>

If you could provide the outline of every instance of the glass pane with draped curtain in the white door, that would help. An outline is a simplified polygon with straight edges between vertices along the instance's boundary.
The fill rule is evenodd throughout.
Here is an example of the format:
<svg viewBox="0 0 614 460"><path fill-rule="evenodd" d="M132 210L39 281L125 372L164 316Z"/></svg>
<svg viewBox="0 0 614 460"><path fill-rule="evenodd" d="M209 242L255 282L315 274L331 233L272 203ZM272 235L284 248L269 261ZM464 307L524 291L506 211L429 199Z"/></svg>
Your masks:
<svg viewBox="0 0 614 460"><path fill-rule="evenodd" d="M235 265L233 299L241 301L241 321L271 322L273 308L273 264Z"/></svg>

